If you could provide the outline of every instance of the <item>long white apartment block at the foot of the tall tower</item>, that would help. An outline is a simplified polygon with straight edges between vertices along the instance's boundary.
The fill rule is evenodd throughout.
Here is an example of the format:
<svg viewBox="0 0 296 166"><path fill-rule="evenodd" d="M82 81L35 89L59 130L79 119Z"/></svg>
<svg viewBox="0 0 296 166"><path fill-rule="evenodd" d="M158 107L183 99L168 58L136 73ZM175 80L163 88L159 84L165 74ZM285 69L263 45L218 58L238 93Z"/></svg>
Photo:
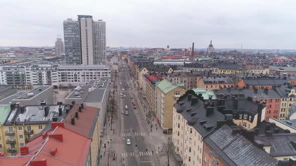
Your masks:
<svg viewBox="0 0 296 166"><path fill-rule="evenodd" d="M91 80L111 77L112 65L59 65L58 86L87 84Z"/></svg>

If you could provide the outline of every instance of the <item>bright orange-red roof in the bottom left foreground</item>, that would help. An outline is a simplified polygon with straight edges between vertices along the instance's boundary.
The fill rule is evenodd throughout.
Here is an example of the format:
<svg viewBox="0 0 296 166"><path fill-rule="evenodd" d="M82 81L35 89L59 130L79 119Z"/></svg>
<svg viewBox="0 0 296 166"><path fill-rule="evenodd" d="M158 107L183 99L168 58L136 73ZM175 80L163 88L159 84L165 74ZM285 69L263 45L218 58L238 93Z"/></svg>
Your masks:
<svg viewBox="0 0 296 166"><path fill-rule="evenodd" d="M51 130L22 146L17 158L33 156L30 165L85 165L91 139L64 128L63 122L51 125ZM15 157L10 159L14 161Z"/></svg>

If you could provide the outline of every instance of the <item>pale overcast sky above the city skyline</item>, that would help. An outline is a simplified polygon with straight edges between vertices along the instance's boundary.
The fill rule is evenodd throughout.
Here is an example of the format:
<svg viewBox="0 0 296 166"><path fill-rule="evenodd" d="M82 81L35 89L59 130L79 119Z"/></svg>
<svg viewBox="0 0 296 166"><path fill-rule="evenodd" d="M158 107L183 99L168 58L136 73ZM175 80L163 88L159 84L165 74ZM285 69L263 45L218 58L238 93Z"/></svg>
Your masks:
<svg viewBox="0 0 296 166"><path fill-rule="evenodd" d="M107 46L296 49L296 0L0 0L0 46L52 46L63 20L106 21Z"/></svg>

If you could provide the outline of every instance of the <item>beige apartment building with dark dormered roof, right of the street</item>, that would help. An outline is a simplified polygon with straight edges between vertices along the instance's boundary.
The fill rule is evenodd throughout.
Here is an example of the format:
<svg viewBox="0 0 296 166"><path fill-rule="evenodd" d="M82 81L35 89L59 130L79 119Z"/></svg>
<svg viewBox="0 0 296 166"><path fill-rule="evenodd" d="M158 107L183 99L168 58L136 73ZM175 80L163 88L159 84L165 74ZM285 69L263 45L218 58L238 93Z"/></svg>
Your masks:
<svg viewBox="0 0 296 166"><path fill-rule="evenodd" d="M203 165L203 138L213 132L217 121L229 119L214 107L203 102L201 96L186 93L173 108L173 144L182 165Z"/></svg>

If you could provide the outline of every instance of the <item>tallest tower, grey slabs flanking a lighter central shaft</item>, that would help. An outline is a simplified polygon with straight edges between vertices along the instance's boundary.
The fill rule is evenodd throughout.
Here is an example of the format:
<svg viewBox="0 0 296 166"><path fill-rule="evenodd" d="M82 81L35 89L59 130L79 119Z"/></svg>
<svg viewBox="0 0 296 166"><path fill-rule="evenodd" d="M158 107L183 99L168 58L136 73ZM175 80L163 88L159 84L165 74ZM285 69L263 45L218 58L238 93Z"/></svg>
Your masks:
<svg viewBox="0 0 296 166"><path fill-rule="evenodd" d="M106 23L91 15L64 21L66 64L105 64Z"/></svg>

